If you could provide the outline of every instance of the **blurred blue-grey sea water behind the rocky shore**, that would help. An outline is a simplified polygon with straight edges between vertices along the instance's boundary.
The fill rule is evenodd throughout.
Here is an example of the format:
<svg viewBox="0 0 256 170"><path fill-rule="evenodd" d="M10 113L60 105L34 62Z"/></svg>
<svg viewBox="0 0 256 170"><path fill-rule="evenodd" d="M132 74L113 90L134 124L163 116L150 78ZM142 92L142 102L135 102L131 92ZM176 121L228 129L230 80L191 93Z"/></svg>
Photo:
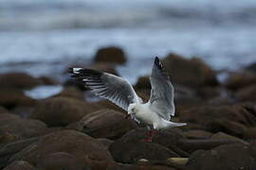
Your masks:
<svg viewBox="0 0 256 170"><path fill-rule="evenodd" d="M1 0L0 73L64 81L70 65L113 45L133 83L171 52L237 70L256 61L255 27L255 0Z"/></svg>

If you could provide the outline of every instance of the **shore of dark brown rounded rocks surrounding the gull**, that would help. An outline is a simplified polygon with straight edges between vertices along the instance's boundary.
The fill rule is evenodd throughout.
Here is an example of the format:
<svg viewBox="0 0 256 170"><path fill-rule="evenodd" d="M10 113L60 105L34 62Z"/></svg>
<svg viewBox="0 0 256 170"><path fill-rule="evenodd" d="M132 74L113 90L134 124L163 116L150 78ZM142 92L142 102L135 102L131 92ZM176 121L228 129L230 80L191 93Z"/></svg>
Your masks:
<svg viewBox="0 0 256 170"><path fill-rule="evenodd" d="M175 88L173 120L188 126L159 131L152 143L142 140L147 129L109 101L88 100L88 91L71 77L63 92L36 100L25 91L59 82L1 74L0 169L256 169L256 64L227 72L220 81L219 72L201 59L161 59ZM104 48L90 68L119 75L115 66L127 60L118 47ZM143 100L149 98L149 76L134 87Z"/></svg>

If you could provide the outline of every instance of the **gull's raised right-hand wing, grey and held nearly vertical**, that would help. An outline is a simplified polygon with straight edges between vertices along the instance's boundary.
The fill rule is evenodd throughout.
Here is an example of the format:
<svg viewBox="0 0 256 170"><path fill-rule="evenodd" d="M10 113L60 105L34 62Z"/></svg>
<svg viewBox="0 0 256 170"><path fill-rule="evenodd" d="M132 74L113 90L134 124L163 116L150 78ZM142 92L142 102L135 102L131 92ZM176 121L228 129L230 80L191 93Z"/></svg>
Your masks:
<svg viewBox="0 0 256 170"><path fill-rule="evenodd" d="M151 109L165 120L170 120L171 115L174 116L175 112L174 87L157 57L155 57L150 81L152 87L149 100Z"/></svg>

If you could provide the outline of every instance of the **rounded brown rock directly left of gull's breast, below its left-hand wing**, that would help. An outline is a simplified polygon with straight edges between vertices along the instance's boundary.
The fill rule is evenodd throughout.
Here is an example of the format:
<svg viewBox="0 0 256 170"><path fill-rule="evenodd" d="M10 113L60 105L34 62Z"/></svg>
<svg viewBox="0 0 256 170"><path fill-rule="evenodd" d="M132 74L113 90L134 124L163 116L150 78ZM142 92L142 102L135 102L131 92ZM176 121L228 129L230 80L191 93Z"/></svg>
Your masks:
<svg viewBox="0 0 256 170"><path fill-rule="evenodd" d="M136 128L132 120L125 118L125 114L115 110L98 110L88 113L76 123L69 125L94 138L118 139L127 131Z"/></svg>

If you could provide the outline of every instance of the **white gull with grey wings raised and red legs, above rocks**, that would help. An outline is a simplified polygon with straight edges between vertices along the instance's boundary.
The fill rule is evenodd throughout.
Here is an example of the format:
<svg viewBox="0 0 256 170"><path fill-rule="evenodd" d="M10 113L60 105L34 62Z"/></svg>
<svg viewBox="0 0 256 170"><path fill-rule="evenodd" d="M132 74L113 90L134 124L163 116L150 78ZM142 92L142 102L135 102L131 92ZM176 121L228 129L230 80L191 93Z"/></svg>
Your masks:
<svg viewBox="0 0 256 170"><path fill-rule="evenodd" d="M152 89L147 103L143 103L133 86L119 76L85 68L71 68L70 73L82 81L85 87L91 89L92 93L126 110L138 124L145 124L150 129L147 141L152 141L155 130L186 125L170 121L175 112L174 87L157 57L150 76Z"/></svg>

